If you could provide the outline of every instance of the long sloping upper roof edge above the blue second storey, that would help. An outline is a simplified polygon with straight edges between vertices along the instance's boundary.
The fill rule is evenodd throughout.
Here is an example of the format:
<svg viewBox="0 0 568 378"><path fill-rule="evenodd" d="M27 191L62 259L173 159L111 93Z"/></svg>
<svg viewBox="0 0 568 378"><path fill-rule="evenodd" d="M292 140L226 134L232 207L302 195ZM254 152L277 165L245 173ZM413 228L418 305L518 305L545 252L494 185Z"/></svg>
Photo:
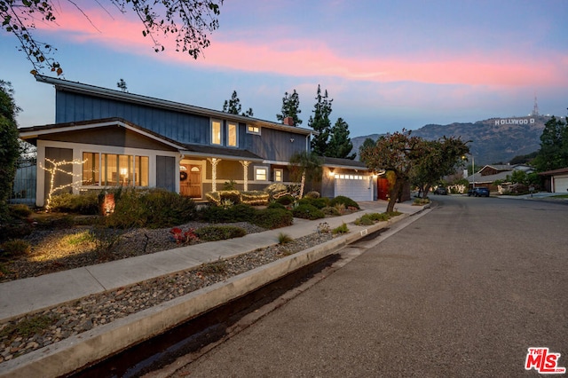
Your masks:
<svg viewBox="0 0 568 378"><path fill-rule="evenodd" d="M69 82L67 80L58 79L55 77L36 75L36 81L40 83L53 84L55 85L55 88L58 91L73 91L101 98L114 98L120 101L130 102L144 106L154 106L162 109L170 109L181 113L200 114L208 117L223 118L235 122L248 123L250 125L265 127L269 129L286 130L301 135L319 134L319 132L312 129L304 129L296 126L288 126L278 122L259 120L257 118L246 117L244 115L225 113L219 110L182 104L179 102L169 101L160 98L151 98L123 91L109 90L106 88L97 87L90 84Z"/></svg>

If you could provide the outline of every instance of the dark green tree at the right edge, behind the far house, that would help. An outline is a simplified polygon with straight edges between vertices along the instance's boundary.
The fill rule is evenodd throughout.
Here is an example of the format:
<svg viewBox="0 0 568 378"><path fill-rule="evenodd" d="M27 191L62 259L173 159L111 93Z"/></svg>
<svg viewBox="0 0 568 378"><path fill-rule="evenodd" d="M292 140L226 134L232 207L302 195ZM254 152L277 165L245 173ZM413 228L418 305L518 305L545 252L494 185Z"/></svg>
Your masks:
<svg viewBox="0 0 568 378"><path fill-rule="evenodd" d="M568 122L550 118L540 135L540 151L533 164L540 171L568 167Z"/></svg>

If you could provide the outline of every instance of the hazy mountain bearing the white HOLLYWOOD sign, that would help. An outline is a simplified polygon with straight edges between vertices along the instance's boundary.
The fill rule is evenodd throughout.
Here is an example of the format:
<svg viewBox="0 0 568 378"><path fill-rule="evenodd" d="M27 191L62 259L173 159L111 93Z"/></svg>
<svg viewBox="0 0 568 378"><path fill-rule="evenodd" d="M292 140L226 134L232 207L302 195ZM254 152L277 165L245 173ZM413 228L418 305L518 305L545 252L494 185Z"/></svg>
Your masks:
<svg viewBox="0 0 568 378"><path fill-rule="evenodd" d="M527 117L490 118L474 123L428 124L412 135L426 140L446 137L461 137L471 141L468 146L476 165L506 163L517 155L531 154L540 149L540 134L550 117L530 115ZM351 138L353 151L367 138L376 140L380 134Z"/></svg>

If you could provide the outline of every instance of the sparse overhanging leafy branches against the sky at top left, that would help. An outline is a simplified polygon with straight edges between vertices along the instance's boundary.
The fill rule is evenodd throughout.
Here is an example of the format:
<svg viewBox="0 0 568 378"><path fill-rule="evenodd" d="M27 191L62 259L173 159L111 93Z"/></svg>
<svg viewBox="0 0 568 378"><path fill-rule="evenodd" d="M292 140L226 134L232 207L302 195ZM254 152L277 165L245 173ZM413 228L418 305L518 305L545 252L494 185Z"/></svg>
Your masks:
<svg viewBox="0 0 568 378"><path fill-rule="evenodd" d="M67 3L91 22L79 2L67 0ZM176 51L186 51L193 59L197 59L201 50L210 44L207 33L219 27L217 16L223 0L110 0L110 3L113 4L113 10L126 13L130 8L130 12L137 14L143 24L142 35L152 39L154 51L165 50L157 35L175 35ZM110 13L102 3L97 4ZM34 75L45 67L57 75L63 73L59 62L50 57L57 49L49 43L37 41L34 36L38 20L57 26L56 10L60 10L60 4L55 0L0 0L2 28L18 39L19 50L31 62Z"/></svg>

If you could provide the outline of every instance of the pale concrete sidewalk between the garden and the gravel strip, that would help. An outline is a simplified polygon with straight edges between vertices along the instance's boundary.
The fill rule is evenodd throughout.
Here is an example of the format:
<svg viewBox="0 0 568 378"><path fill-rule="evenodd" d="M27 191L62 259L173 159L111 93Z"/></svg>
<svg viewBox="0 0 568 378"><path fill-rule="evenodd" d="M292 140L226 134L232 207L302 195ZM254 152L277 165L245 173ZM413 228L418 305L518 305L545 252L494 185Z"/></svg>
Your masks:
<svg viewBox="0 0 568 378"><path fill-rule="evenodd" d="M280 232L297 239L316 232L318 224L324 221L331 228L343 223L349 224L364 213L384 212L387 202L361 202L360 206L361 211L343 217L315 221L295 218L291 226L248 234L239 239L201 243L105 264L5 282L0 284L0 321L74 301L87 295L185 271L219 258L230 258L257 248L268 247L278 242ZM399 203L396 208L406 214L414 214L423 209L422 206L412 206L412 202Z"/></svg>

